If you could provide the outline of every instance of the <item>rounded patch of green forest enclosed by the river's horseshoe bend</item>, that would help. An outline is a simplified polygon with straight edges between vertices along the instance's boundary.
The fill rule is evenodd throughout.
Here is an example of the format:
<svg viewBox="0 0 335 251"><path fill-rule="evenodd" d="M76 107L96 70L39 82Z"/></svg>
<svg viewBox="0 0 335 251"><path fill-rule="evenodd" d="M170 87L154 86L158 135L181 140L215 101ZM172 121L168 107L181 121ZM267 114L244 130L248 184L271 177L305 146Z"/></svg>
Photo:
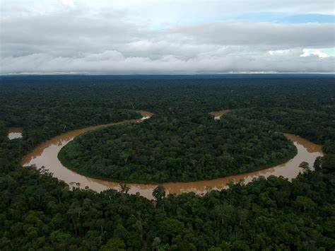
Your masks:
<svg viewBox="0 0 335 251"><path fill-rule="evenodd" d="M282 134L269 131L270 123L234 112L221 121L207 114L168 120L165 116L78 136L61 149L59 159L92 177L169 182L252 172L283 163L296 153Z"/></svg>

